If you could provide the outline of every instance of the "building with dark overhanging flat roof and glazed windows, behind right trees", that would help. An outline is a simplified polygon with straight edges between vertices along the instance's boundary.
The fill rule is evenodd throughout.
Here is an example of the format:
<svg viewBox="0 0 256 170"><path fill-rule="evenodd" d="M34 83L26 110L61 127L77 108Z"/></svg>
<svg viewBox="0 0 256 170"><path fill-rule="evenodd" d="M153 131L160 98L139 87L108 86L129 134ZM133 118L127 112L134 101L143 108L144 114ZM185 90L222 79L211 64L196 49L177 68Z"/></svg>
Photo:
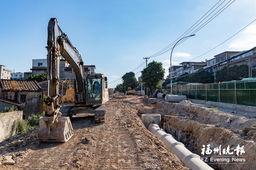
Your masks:
<svg viewBox="0 0 256 170"><path fill-rule="evenodd" d="M221 63L221 62L230 59L230 55L234 55L239 52L240 51L225 51L218 55L214 55L214 57L216 58L215 63L217 64L216 71L221 70L225 66L229 66L230 62L224 62L224 63ZM218 64L218 63L220 63L220 64Z"/></svg>

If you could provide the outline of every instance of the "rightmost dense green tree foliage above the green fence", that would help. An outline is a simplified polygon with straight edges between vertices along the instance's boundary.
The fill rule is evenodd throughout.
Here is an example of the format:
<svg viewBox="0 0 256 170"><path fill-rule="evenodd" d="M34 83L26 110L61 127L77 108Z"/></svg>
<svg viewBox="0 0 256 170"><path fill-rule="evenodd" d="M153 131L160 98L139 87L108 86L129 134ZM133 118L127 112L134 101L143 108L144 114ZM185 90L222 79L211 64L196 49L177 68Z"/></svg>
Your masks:
<svg viewBox="0 0 256 170"><path fill-rule="evenodd" d="M249 77L249 67L246 64L223 67L216 72L216 82L241 80L240 77ZM252 77L256 76L256 70L252 70Z"/></svg>

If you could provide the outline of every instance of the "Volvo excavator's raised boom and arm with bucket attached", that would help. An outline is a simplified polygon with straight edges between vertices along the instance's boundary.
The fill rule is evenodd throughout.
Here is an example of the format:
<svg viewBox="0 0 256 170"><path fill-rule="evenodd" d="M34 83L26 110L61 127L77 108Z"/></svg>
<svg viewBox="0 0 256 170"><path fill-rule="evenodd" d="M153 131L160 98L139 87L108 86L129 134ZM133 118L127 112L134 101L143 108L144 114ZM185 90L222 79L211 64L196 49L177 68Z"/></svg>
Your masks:
<svg viewBox="0 0 256 170"><path fill-rule="evenodd" d="M77 104L85 103L84 62L67 35L61 31L57 18L51 18L48 23L46 48L48 96L44 99L46 112L45 116L39 120L38 137L45 142L67 142L73 136L74 130L69 117L60 117L60 56L65 58L75 73L74 89Z"/></svg>

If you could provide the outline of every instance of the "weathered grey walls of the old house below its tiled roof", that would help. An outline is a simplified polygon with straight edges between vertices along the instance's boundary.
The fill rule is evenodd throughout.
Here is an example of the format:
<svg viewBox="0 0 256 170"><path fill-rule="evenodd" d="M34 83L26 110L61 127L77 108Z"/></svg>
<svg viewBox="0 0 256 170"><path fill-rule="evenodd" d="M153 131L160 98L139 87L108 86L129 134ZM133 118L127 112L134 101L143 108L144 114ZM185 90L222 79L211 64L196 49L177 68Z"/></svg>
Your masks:
<svg viewBox="0 0 256 170"><path fill-rule="evenodd" d="M26 101L20 101L21 94L26 95ZM25 118L43 112L43 91L8 91L4 92L4 99L19 103L18 110L23 110Z"/></svg>

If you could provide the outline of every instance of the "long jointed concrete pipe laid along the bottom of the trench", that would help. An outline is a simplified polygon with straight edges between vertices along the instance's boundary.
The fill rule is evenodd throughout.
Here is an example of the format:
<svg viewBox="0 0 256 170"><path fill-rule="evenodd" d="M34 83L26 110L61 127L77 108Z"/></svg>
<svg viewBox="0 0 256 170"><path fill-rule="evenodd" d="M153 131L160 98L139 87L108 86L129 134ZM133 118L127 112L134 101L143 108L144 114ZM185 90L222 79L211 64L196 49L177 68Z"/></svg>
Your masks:
<svg viewBox="0 0 256 170"><path fill-rule="evenodd" d="M200 159L200 156L190 152L184 144L176 141L172 135L167 134L157 124L149 124L148 130L164 142L164 145L172 151L186 166L192 170L213 170Z"/></svg>

